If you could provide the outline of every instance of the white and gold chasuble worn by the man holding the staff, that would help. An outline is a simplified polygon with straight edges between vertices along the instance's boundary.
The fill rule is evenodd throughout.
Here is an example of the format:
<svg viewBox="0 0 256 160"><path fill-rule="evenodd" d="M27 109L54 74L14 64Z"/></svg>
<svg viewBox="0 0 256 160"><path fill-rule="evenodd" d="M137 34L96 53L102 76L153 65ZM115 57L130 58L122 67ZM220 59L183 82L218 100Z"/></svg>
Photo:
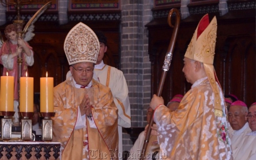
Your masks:
<svg viewBox="0 0 256 160"><path fill-rule="evenodd" d="M219 87L218 87L219 88ZM223 116L214 114L214 93L206 78L192 85L176 111L164 105L154 112L160 158L167 160L232 160L222 91Z"/></svg>

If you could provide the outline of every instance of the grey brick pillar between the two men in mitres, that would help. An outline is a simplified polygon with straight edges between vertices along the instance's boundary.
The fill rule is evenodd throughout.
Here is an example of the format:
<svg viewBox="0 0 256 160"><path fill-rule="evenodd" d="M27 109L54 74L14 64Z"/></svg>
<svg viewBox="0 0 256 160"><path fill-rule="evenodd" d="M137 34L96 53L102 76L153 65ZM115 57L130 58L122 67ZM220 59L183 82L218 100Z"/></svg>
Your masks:
<svg viewBox="0 0 256 160"><path fill-rule="evenodd" d="M151 64L145 25L153 19L153 0L121 0L121 70L128 84L132 127L145 127L151 100ZM123 135L123 151L132 146Z"/></svg>

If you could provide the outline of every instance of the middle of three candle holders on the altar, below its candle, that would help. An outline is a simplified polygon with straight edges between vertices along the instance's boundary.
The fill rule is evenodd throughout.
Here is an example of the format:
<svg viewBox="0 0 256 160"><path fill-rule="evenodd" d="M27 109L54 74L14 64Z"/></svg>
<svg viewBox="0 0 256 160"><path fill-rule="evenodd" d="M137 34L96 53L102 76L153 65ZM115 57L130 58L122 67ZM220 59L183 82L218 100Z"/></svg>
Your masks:
<svg viewBox="0 0 256 160"><path fill-rule="evenodd" d="M21 119L21 139L23 141L32 141L32 120L34 112L19 112Z"/></svg>

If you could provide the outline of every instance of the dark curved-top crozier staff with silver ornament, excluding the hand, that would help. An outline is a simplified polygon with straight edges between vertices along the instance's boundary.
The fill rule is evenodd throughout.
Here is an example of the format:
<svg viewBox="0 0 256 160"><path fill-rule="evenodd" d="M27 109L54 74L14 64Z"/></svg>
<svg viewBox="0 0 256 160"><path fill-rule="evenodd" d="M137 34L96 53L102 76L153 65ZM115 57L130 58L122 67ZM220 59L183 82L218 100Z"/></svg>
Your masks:
<svg viewBox="0 0 256 160"><path fill-rule="evenodd" d="M174 45L175 45L175 42L176 42L176 39L177 39L178 30L179 30L180 13L179 13L179 10L176 9L176 8L173 8L169 11L168 19L167 19L168 25L170 27L173 27L172 22L171 22L173 13L176 13L176 22L175 22L175 26L173 28L173 35L172 35L170 44L168 46L168 50L167 50L167 53L166 53L164 65L163 65L163 68L162 68L163 71L162 71L160 83L159 83L158 90L157 90L157 96L160 96L161 93L162 93L162 89L163 89L165 78L166 78L166 73L169 70L169 67L171 65L171 60L172 60L172 57L173 57L173 48L174 48ZM142 147L142 150L141 150L140 160L143 160L145 158L144 156L145 156L145 152L147 150L147 145L148 145L149 137L150 137L150 134L151 134L151 127L150 126L153 126L153 122L154 122L154 120L153 120L153 114L152 114L150 122L148 124L145 141L143 143L143 147Z"/></svg>

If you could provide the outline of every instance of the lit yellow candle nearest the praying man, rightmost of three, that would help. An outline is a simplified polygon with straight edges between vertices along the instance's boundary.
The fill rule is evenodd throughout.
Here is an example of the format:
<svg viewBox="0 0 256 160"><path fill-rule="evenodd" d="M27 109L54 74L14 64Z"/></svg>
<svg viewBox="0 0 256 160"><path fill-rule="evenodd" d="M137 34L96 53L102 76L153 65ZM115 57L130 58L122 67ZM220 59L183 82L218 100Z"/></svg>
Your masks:
<svg viewBox="0 0 256 160"><path fill-rule="evenodd" d="M53 77L40 78L40 112L53 112Z"/></svg>

